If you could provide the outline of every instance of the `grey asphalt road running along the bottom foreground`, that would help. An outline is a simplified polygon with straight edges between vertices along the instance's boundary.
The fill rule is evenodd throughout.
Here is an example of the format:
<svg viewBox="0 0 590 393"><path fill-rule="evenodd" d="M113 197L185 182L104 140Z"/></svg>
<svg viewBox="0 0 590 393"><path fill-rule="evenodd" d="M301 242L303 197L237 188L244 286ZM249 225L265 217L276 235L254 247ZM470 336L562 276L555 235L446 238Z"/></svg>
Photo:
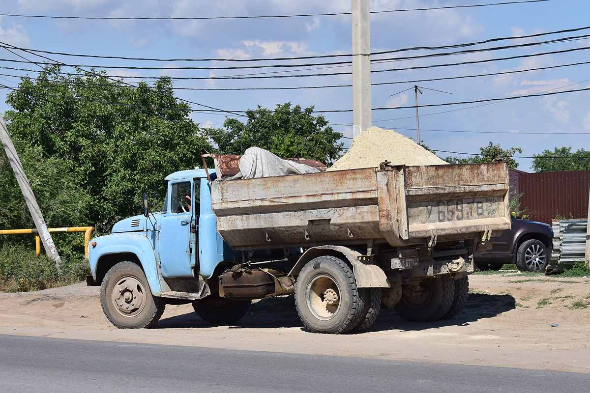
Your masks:
<svg viewBox="0 0 590 393"><path fill-rule="evenodd" d="M590 374L572 372L0 335L5 393L556 393L588 386Z"/></svg>

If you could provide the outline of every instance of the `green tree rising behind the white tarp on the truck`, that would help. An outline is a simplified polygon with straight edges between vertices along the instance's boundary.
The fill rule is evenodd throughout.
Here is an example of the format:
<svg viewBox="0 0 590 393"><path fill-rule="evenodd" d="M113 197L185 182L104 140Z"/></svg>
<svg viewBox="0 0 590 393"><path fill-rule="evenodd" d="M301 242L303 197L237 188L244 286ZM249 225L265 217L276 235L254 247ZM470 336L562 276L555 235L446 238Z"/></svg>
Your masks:
<svg viewBox="0 0 590 393"><path fill-rule="evenodd" d="M219 151L244 154L248 147L257 146L279 157L294 157L299 152L301 157L326 164L341 156L343 143L337 142L342 134L329 127L323 115L314 116L313 106L302 110L285 103L269 111L258 105L246 115L245 123L227 118L224 129L209 129Z"/></svg>

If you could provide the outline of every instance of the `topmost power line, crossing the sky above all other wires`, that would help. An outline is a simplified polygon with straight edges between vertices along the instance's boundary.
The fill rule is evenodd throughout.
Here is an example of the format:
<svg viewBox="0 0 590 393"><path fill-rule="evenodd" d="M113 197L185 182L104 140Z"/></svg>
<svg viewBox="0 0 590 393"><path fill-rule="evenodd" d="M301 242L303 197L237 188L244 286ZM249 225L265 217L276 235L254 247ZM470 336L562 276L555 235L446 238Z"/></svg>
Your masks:
<svg viewBox="0 0 590 393"><path fill-rule="evenodd" d="M435 9L453 9L453 8L476 8L493 5L508 5L508 4L525 4L525 3L540 3L550 0L523 0L523 1L507 1L489 4L473 4L473 5L450 5L430 8L412 8L412 9L389 9L386 11L371 11L371 14L385 14L389 12L408 12L408 11L431 11ZM297 14L297 15L251 15L251 16L169 16L169 17L124 17L124 16L59 16L59 15L22 15L22 14L0 14L0 16L14 16L18 18L50 18L50 19L106 19L117 21L173 21L173 20L207 20L207 19L259 19L259 18L296 18L301 16L337 16L337 15L351 15L352 12L331 12L329 14Z"/></svg>

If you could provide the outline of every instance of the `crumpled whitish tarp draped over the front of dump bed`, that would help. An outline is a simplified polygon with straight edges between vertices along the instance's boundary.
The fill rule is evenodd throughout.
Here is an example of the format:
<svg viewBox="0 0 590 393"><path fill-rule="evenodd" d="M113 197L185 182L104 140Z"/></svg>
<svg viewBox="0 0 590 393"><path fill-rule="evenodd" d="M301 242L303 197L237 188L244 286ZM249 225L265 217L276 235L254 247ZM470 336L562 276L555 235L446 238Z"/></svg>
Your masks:
<svg viewBox="0 0 590 393"><path fill-rule="evenodd" d="M255 179L258 177L286 176L288 174L317 173L320 170L306 164L283 160L268 150L250 147L240 158L240 171L232 177L219 180Z"/></svg>

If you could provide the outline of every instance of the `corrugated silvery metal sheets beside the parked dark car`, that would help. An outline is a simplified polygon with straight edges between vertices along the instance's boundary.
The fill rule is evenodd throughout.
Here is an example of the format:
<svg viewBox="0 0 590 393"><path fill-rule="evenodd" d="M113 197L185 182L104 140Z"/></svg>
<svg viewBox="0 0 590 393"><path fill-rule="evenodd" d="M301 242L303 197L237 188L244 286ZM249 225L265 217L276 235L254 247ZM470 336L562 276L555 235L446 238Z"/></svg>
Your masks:
<svg viewBox="0 0 590 393"><path fill-rule="evenodd" d="M546 272L557 273L586 259L588 219L553 220L553 251Z"/></svg>

